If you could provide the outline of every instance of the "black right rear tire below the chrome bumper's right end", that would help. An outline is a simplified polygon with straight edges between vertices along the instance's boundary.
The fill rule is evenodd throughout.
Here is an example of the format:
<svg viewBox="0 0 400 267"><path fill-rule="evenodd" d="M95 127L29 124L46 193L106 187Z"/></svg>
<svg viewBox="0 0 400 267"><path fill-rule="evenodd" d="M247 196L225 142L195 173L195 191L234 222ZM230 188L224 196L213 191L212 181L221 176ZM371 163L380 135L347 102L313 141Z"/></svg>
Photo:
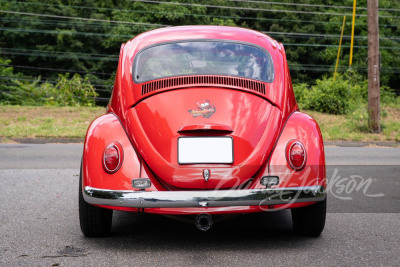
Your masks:
<svg viewBox="0 0 400 267"><path fill-rule="evenodd" d="M325 227L326 198L313 205L292 209L295 232L303 236L317 237Z"/></svg>

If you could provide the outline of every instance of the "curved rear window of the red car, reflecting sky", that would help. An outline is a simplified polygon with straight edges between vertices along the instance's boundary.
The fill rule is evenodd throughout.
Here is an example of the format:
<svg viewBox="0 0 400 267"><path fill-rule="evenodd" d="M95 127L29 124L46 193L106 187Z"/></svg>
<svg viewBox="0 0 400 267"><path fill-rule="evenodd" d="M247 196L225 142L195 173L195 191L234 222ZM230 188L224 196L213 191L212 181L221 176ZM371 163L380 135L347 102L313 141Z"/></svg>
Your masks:
<svg viewBox="0 0 400 267"><path fill-rule="evenodd" d="M145 48L133 65L137 83L184 75L227 75L273 81L270 54L259 47L228 41L165 43Z"/></svg>

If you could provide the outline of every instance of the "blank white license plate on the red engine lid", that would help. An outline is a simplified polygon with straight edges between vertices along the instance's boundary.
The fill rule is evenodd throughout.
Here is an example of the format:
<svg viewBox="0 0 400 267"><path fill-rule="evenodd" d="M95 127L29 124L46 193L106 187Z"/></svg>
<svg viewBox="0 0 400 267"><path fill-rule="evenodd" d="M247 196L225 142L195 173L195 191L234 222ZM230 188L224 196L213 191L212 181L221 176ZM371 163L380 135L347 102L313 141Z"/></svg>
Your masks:
<svg viewBox="0 0 400 267"><path fill-rule="evenodd" d="M180 137L178 163L233 163L231 137Z"/></svg>

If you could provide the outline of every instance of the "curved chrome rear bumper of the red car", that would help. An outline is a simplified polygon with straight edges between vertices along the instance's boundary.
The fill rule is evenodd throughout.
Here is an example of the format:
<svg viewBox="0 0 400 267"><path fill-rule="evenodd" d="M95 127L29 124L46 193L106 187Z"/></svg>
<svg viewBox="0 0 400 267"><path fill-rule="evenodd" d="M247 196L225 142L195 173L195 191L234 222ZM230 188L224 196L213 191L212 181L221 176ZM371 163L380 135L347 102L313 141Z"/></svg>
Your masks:
<svg viewBox="0 0 400 267"><path fill-rule="evenodd" d="M94 205L183 208L265 206L322 201L326 198L326 191L323 186L211 191L106 190L86 186L83 196L86 202Z"/></svg>

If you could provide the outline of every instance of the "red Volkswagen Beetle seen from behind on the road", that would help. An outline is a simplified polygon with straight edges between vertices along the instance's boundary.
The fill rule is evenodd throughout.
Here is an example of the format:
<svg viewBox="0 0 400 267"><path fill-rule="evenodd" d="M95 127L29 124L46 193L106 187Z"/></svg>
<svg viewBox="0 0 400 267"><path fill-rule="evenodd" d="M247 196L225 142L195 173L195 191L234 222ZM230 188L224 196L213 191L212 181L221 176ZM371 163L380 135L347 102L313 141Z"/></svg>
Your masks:
<svg viewBox="0 0 400 267"><path fill-rule="evenodd" d="M253 30L183 26L121 46L107 113L86 134L79 217L88 237L113 210L191 215L291 209L297 233L325 225L324 146L299 111L285 50Z"/></svg>

